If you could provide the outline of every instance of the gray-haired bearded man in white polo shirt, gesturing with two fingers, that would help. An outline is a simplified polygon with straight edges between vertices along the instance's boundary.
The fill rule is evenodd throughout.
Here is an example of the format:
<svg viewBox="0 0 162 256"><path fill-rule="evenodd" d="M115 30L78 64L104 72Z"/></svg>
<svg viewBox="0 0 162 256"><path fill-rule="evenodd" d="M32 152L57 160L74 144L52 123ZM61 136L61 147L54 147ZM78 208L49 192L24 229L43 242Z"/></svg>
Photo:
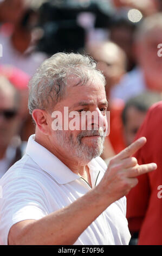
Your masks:
<svg viewBox="0 0 162 256"><path fill-rule="evenodd" d="M29 87L35 135L29 138L26 154L0 182L1 243L128 245L125 195L138 175L157 168L155 163L139 166L131 157L146 139L139 138L114 156L108 167L100 158L107 123L105 78L86 56L54 54ZM69 129L74 113L80 121L87 112L98 117L90 121L91 130L88 118L83 129ZM55 113L59 125L54 127Z"/></svg>

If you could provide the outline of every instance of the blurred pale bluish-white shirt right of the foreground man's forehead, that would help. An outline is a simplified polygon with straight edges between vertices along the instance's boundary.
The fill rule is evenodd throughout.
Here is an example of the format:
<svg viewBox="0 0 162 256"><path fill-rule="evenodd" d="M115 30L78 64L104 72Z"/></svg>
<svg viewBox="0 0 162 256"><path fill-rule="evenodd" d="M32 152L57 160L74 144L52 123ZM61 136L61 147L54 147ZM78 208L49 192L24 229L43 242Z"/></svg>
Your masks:
<svg viewBox="0 0 162 256"><path fill-rule="evenodd" d="M116 86L112 88L110 98L127 101L131 97L145 92L145 90L146 83L144 80L144 75L139 68L135 68L125 74L120 83L116 84Z"/></svg>

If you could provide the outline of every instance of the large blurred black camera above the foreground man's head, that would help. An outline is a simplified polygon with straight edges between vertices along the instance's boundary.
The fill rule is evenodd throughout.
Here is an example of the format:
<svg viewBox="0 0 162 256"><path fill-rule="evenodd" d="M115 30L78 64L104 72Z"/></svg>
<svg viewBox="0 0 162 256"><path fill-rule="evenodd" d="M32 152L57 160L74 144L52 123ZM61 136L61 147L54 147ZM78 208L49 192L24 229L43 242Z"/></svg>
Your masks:
<svg viewBox="0 0 162 256"><path fill-rule="evenodd" d="M109 16L102 13L99 4L88 1L89 4L83 6L77 1L72 2L53 0L41 5L38 26L43 29L43 36L38 41L39 51L49 55L56 52L80 52L86 40L86 30L77 22L80 13L93 13L96 17L95 27L108 26Z"/></svg>

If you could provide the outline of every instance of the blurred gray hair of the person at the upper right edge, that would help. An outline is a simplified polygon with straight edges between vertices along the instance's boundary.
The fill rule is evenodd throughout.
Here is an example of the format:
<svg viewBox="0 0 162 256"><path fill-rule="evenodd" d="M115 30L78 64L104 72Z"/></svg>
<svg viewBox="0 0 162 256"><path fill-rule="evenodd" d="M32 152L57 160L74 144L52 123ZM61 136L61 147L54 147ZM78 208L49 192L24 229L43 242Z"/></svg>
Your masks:
<svg viewBox="0 0 162 256"><path fill-rule="evenodd" d="M141 41L154 29L162 29L162 13L155 13L146 17L134 33L134 40Z"/></svg>

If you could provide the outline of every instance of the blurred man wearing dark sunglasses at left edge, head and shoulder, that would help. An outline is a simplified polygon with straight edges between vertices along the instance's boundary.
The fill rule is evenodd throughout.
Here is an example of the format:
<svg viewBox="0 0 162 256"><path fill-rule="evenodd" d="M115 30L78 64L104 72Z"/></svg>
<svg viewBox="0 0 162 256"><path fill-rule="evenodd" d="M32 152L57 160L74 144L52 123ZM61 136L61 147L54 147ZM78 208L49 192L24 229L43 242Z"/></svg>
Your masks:
<svg viewBox="0 0 162 256"><path fill-rule="evenodd" d="M17 90L0 75L0 178L22 156L15 137L21 121L19 106Z"/></svg>

